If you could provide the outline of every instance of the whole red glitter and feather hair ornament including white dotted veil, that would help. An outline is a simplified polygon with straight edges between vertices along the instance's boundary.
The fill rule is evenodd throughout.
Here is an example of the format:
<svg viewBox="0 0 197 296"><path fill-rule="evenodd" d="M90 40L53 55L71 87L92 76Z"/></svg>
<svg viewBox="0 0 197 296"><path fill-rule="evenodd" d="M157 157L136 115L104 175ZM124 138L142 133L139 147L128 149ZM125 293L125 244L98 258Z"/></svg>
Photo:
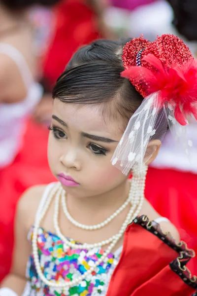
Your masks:
<svg viewBox="0 0 197 296"><path fill-rule="evenodd" d="M133 38L123 49L125 71L135 89L144 97L131 116L127 129L112 158L124 174L134 165L147 162L155 148L150 140L162 141L167 126L185 150L192 146L185 138L187 117L197 119L197 61L188 46L178 37L163 35L154 42Z"/></svg>

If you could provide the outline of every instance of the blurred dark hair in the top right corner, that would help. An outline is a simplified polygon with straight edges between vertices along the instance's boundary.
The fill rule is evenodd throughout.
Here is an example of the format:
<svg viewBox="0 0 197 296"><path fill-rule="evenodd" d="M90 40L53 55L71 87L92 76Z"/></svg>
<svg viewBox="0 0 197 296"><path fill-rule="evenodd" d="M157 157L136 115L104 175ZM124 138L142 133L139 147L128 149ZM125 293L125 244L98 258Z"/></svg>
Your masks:
<svg viewBox="0 0 197 296"><path fill-rule="evenodd" d="M197 40L197 0L168 0L174 12L173 25L188 40Z"/></svg>

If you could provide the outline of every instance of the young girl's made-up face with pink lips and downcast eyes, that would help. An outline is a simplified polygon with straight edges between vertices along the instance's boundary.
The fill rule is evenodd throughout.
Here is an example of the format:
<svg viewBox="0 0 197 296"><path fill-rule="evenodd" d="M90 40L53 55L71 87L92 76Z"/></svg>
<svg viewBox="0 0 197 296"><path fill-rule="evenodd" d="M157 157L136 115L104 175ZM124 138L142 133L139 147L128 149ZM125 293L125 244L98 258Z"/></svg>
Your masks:
<svg viewBox="0 0 197 296"><path fill-rule="evenodd" d="M99 108L54 100L49 165L66 192L76 197L100 195L127 180L110 162L123 134L121 126L103 117ZM79 185L65 181L65 176Z"/></svg>

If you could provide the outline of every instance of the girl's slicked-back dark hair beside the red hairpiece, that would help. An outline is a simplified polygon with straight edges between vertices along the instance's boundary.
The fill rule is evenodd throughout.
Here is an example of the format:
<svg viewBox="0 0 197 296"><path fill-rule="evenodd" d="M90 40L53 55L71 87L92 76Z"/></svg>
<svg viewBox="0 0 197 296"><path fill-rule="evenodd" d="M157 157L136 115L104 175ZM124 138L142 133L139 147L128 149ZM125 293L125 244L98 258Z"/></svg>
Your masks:
<svg viewBox="0 0 197 296"><path fill-rule="evenodd" d="M100 39L81 47L58 78L53 98L66 103L104 103L103 112L120 114L127 124L143 100L129 79L121 77L122 51L127 41Z"/></svg>

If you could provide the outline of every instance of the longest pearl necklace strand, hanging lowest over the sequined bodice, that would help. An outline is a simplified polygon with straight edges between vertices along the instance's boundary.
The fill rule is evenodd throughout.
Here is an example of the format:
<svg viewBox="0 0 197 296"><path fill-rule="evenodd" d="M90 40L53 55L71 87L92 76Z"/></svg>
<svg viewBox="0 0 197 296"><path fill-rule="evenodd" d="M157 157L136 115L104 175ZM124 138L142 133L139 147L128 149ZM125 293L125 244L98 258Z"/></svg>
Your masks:
<svg viewBox="0 0 197 296"><path fill-rule="evenodd" d="M36 272L39 276L39 278L45 283L45 285L47 286L51 286L51 287L55 287L55 288L66 288L66 287L72 287L72 286L75 286L75 285L78 285L81 281L83 281L87 275L90 275L95 269L96 267L103 261L106 260L108 254L112 251L112 249L114 248L114 246L117 244L117 242L120 240L120 238L123 236L128 224L139 214L141 208L142 208L142 205L143 205L143 200L144 200L144 194L141 194L141 193L144 193L144 185L145 185L145 175L144 175L144 172L143 174L140 174L137 175L137 176L134 176L134 178L132 178L132 181L131 181L131 187L133 189L133 200L135 201L135 206L137 205L138 203L138 206L137 206L137 209L135 211L135 213L133 214L133 207L131 207L122 227L121 227L121 230L119 231L119 233L116 235L116 238L114 239L114 241L108 246L108 248L104 251L104 254L98 259L97 262L95 262L95 264L90 267L89 270L87 270L86 272L84 272L83 275L79 276L77 279L74 279L73 281L71 282L64 282L64 283L57 283L54 281L49 281L45 278L44 274L42 273L42 270L41 270L41 267L40 267L40 264L39 264L39 256L38 256L38 250L37 250L37 234L38 234L38 228L39 228L39 224L41 222L41 220L43 219L44 215L46 214L48 208L49 208L49 205L51 203L51 200L55 194L55 192L57 191L57 194L55 196L55 211L54 211L54 223L56 221L55 218L58 217L58 212L59 212L59 200L60 200L60 194L61 194L61 187L60 187L60 184L58 183L58 185L54 186L54 188L51 190L51 193L49 194L49 197L46 201L46 204L43 208L43 211L42 213L40 214L40 216L37 217L37 219L35 220L35 223L34 223L34 229L33 229L33 240L32 240L32 246L33 246L33 259L34 259L34 263L35 263L35 269L36 269ZM139 180L139 179L142 179L142 180ZM133 215L132 215L133 214ZM58 226L58 219L57 219L57 227L59 228ZM65 238L66 239L66 238ZM66 240L67 241L67 240ZM72 244L73 246L73 244Z"/></svg>

